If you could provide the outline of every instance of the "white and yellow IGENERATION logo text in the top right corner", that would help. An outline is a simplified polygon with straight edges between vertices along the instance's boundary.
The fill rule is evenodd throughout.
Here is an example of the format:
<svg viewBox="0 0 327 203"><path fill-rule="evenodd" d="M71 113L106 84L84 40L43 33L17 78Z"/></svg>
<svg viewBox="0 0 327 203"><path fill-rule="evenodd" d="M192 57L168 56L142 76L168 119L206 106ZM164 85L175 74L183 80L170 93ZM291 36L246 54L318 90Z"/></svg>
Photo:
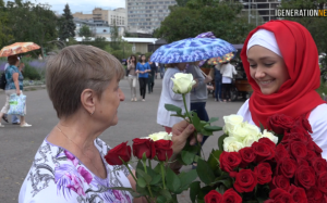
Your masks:
<svg viewBox="0 0 327 203"><path fill-rule="evenodd" d="M327 10L323 9L277 9L277 17L327 17Z"/></svg>

